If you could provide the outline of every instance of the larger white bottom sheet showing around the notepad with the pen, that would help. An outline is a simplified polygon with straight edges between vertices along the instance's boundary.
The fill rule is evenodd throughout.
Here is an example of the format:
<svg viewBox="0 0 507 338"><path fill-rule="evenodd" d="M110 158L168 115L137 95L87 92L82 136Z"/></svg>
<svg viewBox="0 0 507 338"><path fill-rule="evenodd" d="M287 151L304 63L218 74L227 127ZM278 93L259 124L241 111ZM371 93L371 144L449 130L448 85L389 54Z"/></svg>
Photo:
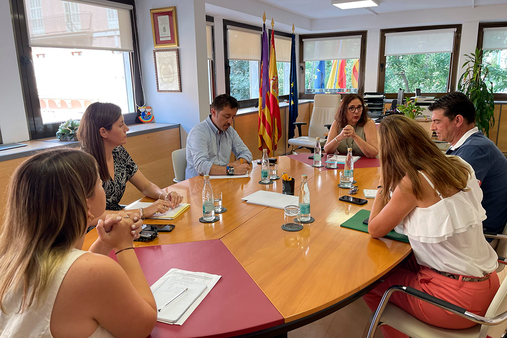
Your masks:
<svg viewBox="0 0 507 338"><path fill-rule="evenodd" d="M209 291L211 291L213 286L215 286L215 284L219 281L219 279L222 278L222 276L211 275L205 272L192 272L179 269L171 269L150 287L152 292L156 290L160 284L163 284L165 280L171 276L176 276L180 278L190 278L193 282L204 283L207 286L206 289L201 293L201 295L197 297L195 302L190 306L190 308L188 308L188 310L185 311L185 313L176 322L167 323L171 325L172 324L182 325L183 323L185 323L187 318L189 318L192 312L194 312L194 310L199 306L199 304L201 304L202 300L204 299L204 297L206 297Z"/></svg>

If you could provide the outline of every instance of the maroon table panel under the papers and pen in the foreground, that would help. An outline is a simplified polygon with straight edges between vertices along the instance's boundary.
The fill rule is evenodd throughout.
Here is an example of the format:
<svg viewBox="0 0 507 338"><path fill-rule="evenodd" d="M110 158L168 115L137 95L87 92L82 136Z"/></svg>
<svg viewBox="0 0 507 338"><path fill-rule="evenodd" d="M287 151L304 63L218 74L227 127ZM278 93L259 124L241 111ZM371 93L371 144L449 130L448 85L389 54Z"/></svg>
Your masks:
<svg viewBox="0 0 507 338"><path fill-rule="evenodd" d="M138 247L135 253L150 285L172 268L222 276L183 325L157 322L150 337L230 337L284 322L220 240Z"/></svg>

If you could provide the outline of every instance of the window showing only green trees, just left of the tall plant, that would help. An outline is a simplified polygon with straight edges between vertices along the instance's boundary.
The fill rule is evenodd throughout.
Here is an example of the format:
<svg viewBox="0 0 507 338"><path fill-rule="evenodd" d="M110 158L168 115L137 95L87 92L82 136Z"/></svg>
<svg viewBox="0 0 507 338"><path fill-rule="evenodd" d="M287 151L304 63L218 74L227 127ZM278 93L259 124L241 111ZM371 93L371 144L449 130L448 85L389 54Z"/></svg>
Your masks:
<svg viewBox="0 0 507 338"><path fill-rule="evenodd" d="M461 25L383 29L380 32L378 90L395 98L420 88L442 96L456 88Z"/></svg>

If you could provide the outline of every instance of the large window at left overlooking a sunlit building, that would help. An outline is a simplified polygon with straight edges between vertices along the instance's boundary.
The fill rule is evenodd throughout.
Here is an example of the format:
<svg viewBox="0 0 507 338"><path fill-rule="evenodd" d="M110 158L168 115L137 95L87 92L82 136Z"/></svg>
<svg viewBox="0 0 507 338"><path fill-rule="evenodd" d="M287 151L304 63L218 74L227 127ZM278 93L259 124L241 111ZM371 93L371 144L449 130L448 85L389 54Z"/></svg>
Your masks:
<svg viewBox="0 0 507 338"><path fill-rule="evenodd" d="M54 137L62 121L80 119L97 101L118 104L126 122L134 123L135 97L143 102L133 53L134 2L101 1L13 0L32 139ZM32 17L31 6L39 3L42 8Z"/></svg>

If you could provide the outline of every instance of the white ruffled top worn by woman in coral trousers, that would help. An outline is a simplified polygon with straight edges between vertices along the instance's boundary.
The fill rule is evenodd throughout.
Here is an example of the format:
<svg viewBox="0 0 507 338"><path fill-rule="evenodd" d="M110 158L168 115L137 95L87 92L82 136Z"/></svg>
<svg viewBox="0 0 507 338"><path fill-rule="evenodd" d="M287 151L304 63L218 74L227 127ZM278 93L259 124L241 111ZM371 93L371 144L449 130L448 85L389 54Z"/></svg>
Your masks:
<svg viewBox="0 0 507 338"><path fill-rule="evenodd" d="M427 208L414 208L403 220L419 265L455 275L482 277L496 270L498 255L486 241L482 221L482 190L472 167L466 189ZM434 188L428 177L419 173Z"/></svg>

